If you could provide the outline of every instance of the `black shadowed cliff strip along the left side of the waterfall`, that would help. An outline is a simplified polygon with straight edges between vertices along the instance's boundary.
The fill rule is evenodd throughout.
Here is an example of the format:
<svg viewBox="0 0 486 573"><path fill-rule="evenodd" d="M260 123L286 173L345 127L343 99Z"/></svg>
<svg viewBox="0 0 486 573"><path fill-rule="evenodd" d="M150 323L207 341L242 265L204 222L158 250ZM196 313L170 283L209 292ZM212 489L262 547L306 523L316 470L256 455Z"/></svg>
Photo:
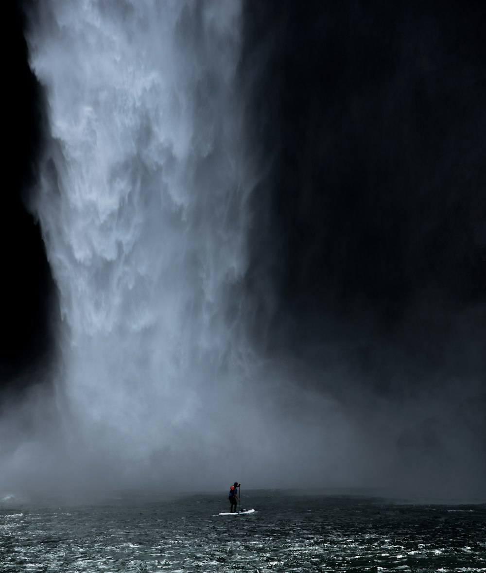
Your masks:
<svg viewBox="0 0 486 573"><path fill-rule="evenodd" d="M9 51L4 89L5 186L0 211L0 390L15 392L36 383L39 368L52 358L57 307L41 231L26 209L37 183L44 104L41 88L28 66L23 36L26 3L9 2L7 6L3 18Z"/></svg>

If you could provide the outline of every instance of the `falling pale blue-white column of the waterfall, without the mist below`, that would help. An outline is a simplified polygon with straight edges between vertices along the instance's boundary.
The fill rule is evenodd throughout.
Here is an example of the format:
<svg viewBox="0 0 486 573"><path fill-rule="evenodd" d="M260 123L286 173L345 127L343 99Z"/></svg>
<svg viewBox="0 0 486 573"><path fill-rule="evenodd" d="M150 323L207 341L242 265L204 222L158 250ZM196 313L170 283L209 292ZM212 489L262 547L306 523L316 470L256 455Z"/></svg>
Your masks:
<svg viewBox="0 0 486 573"><path fill-rule="evenodd" d="M104 459L194 456L207 432L191 420L227 409L242 352L229 312L245 270L240 4L42 10L30 61L52 148L34 210L60 292L77 447L82 435Z"/></svg>

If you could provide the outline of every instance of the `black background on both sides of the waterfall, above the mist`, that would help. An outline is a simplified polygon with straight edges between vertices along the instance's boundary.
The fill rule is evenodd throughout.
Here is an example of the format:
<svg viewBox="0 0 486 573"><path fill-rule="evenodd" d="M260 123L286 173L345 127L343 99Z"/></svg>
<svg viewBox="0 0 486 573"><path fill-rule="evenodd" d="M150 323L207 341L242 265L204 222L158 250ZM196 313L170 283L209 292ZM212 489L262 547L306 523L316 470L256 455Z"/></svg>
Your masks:
<svg viewBox="0 0 486 573"><path fill-rule="evenodd" d="M22 201L42 93L22 3L8 6L3 395L53 359L57 308ZM383 394L440 388L445 373L484 380L485 3L247 0L243 17L238 81L260 177L245 277L255 347L313 372L346 363L353 384Z"/></svg>

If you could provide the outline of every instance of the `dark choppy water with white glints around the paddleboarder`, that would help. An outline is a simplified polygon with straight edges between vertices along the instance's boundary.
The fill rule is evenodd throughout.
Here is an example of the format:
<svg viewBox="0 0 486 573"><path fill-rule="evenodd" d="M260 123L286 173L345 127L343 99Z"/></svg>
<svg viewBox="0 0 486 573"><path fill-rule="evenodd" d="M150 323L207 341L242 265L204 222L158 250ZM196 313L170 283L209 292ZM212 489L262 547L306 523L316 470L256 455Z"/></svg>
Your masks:
<svg viewBox="0 0 486 573"><path fill-rule="evenodd" d="M10 497L0 570L486 571L486 504L248 492L256 513L218 516L227 506L223 494L75 506Z"/></svg>

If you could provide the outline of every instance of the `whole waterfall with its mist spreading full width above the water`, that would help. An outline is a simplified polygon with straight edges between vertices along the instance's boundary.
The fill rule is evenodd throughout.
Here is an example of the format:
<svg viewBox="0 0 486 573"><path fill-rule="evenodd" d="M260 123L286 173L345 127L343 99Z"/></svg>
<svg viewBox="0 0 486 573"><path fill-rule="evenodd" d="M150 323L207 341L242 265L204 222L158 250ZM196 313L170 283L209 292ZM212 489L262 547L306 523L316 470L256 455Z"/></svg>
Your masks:
<svg viewBox="0 0 486 573"><path fill-rule="evenodd" d="M45 119L29 208L59 307L56 359L29 371L21 398L0 411L0 492L226 492L238 480L482 495L480 399L465 393L458 406L456 382L451 393L410 391L408 359L396 372L367 359L376 333L348 337L319 313L300 323L299 297L289 296L287 313L287 219L272 162L288 149L312 166L327 143L313 150L305 129L284 129L284 120L324 116L320 100L302 116L285 104L279 86L299 76L287 77L283 50L293 53L293 28L274 29L257 5L26 3ZM294 64L305 54L297 50ZM281 80L269 93L274 72ZM311 84L295 85L291 100L307 101L293 97ZM274 154L279 138L286 144ZM311 180L316 194L332 192L303 169L288 182L297 197ZM318 225L302 237L299 228L289 237L308 237L311 253ZM385 344L385 363L394 355Z"/></svg>

